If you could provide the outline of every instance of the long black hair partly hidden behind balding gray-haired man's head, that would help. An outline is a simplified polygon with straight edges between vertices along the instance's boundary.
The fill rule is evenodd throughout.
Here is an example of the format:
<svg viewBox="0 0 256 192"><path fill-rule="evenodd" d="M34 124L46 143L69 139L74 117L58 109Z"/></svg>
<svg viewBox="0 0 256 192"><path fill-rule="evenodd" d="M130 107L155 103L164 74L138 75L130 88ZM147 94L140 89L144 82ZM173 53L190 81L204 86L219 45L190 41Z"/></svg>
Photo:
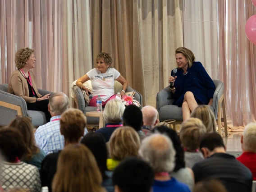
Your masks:
<svg viewBox="0 0 256 192"><path fill-rule="evenodd" d="M178 171L179 169L184 168L185 167L184 151L176 131L166 126L158 126L153 129L153 133L165 134L171 139L174 145L174 149L176 151L174 171Z"/></svg>

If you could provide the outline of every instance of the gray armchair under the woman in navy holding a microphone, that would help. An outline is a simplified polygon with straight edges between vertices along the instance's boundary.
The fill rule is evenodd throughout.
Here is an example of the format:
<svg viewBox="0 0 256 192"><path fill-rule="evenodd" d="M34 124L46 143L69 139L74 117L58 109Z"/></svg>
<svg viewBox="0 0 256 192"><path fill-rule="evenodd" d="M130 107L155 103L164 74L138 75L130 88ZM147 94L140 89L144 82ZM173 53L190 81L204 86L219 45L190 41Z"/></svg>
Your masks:
<svg viewBox="0 0 256 192"><path fill-rule="evenodd" d="M227 130L227 120L225 111L225 101L224 101L224 83L219 80L213 80L216 90L213 95L213 102L210 109L215 115L215 119L218 120L219 133L221 134L221 122L224 122L225 135L228 135ZM168 87L159 91L156 96L156 106L159 112L159 120L175 119L173 122L174 128L175 124L181 124L183 122L182 118L182 108L177 105L172 105L174 102L173 94ZM221 118L221 105L223 110L223 118Z"/></svg>

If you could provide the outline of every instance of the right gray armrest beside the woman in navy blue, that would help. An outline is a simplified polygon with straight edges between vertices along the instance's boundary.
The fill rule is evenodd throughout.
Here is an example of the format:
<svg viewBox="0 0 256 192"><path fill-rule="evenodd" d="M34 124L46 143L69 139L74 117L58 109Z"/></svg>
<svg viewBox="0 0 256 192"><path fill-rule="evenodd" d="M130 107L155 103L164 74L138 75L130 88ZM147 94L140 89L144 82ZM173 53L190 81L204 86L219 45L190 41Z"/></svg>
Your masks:
<svg viewBox="0 0 256 192"><path fill-rule="evenodd" d="M215 110L215 118L217 119L218 102L224 92L224 83L222 81L219 81L216 79L213 79L213 82L215 84L216 89L215 89L215 92L214 92L213 98L212 98L212 107Z"/></svg>

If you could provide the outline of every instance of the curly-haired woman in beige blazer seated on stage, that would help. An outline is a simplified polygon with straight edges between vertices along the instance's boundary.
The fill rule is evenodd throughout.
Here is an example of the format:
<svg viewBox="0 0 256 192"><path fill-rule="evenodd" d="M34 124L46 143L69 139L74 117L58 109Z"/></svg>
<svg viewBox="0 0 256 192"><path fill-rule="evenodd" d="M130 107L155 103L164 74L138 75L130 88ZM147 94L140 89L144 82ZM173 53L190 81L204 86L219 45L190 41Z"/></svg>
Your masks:
<svg viewBox="0 0 256 192"><path fill-rule="evenodd" d="M27 103L27 110L43 111L49 122L51 117L48 111L50 93L41 96L37 91L35 74L30 70L35 67L35 62L33 49L27 47L17 50L15 63L18 69L11 74L8 92L22 97Z"/></svg>

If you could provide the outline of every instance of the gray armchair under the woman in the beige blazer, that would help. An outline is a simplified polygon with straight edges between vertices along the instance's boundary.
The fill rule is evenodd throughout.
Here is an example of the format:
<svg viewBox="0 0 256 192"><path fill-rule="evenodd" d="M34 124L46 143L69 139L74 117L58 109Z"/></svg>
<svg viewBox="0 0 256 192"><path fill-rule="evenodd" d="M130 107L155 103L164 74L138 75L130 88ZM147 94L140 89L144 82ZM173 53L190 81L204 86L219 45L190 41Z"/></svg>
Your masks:
<svg viewBox="0 0 256 192"><path fill-rule="evenodd" d="M38 89L41 95L50 91ZM46 115L42 111L27 110L25 100L19 96L8 93L8 84L0 85L0 126L8 125L16 115L29 116L35 127L46 123Z"/></svg>

